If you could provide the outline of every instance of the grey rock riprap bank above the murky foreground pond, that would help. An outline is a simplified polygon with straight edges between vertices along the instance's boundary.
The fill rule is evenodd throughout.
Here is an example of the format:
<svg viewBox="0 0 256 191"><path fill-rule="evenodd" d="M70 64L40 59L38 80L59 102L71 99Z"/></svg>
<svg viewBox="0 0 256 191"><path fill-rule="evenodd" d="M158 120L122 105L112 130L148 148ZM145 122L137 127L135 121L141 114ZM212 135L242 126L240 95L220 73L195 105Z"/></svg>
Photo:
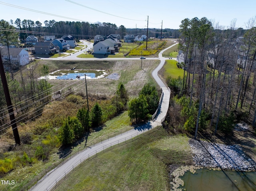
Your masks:
<svg viewBox="0 0 256 191"><path fill-rule="evenodd" d="M225 170L255 171L256 163L248 158L238 145L214 144L189 140L196 166Z"/></svg>

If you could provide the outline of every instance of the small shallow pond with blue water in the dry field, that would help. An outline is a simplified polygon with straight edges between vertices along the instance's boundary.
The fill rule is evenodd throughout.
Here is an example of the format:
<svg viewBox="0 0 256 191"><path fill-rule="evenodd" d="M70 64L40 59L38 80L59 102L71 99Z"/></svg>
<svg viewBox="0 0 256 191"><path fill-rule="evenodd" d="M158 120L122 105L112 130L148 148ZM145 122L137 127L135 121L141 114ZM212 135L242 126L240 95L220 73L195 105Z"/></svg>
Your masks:
<svg viewBox="0 0 256 191"><path fill-rule="evenodd" d="M86 79L98 79L106 76L106 70L58 70L50 73L47 79L84 79L86 74ZM41 77L44 78L44 77Z"/></svg>

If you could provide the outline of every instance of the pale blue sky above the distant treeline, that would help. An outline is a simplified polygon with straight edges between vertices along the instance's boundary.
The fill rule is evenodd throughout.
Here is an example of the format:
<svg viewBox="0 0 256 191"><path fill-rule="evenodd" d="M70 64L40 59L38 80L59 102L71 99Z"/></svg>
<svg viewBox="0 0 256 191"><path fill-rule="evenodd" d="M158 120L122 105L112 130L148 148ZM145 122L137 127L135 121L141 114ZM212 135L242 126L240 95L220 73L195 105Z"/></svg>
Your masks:
<svg viewBox="0 0 256 191"><path fill-rule="evenodd" d="M126 28L147 28L148 20L149 28L179 29L185 18L206 17L224 28L236 20L236 28L246 29L248 20L256 16L255 8L255 0L0 0L0 20L19 18L43 26L45 20L106 22Z"/></svg>

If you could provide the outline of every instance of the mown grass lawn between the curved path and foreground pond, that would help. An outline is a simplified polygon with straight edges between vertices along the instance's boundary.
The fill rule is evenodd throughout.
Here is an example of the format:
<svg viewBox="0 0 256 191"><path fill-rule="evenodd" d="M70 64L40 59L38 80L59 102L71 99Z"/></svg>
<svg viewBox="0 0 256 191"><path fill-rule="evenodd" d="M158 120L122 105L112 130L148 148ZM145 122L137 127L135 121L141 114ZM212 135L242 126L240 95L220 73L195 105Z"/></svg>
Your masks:
<svg viewBox="0 0 256 191"><path fill-rule="evenodd" d="M86 161L56 191L168 191L169 164L190 164L188 137L158 128Z"/></svg>

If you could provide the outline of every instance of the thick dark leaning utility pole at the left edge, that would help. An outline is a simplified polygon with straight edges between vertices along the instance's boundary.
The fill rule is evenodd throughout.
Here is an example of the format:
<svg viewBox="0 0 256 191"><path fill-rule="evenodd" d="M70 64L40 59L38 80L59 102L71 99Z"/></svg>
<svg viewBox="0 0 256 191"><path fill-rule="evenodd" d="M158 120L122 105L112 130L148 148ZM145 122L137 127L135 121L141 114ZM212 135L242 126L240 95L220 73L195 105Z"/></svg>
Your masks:
<svg viewBox="0 0 256 191"><path fill-rule="evenodd" d="M13 132L16 144L20 145L20 136L19 136L19 132L18 132L18 128L17 128L17 124L16 124L16 120L15 120L15 116L12 108L12 101L11 101L11 97L10 97L10 93L7 85L6 76L4 73L4 65L3 65L1 53L0 53L0 75L1 75L1 80L4 88L4 95L5 95L6 104L8 107L10 121L12 125L12 132Z"/></svg>

